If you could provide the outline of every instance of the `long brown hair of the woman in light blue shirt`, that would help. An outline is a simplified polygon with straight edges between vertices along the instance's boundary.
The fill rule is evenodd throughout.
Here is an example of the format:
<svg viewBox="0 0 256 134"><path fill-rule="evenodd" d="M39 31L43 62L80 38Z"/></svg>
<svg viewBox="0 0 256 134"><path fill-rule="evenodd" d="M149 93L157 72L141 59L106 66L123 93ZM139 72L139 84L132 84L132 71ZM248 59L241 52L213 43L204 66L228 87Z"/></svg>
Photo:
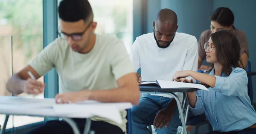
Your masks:
<svg viewBox="0 0 256 134"><path fill-rule="evenodd" d="M224 72L225 75L230 75L232 67L243 68L240 59L240 45L233 33L222 30L212 33L210 37L215 45L217 60L223 66L222 73ZM211 63L207 67L207 72L209 73L213 68L214 65Z"/></svg>

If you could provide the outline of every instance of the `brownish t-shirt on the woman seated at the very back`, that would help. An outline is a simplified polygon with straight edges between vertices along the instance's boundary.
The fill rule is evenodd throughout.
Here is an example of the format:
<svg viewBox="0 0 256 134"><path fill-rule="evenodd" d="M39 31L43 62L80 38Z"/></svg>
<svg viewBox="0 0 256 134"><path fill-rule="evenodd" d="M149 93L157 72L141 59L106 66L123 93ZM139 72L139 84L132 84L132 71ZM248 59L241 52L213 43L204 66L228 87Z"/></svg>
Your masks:
<svg viewBox="0 0 256 134"><path fill-rule="evenodd" d="M247 38L246 35L244 33L244 31L238 30L238 29L231 29L230 30L231 33L233 33L240 45L240 56L245 52L247 54L247 56L249 57L249 48L248 48L248 42L247 42ZM212 34L211 30L206 30L204 31L200 38L199 38L199 42L198 42L198 53L199 53L199 57L204 60L205 56L206 56L206 52L204 50L204 43L208 42L208 40L210 39L210 35Z"/></svg>

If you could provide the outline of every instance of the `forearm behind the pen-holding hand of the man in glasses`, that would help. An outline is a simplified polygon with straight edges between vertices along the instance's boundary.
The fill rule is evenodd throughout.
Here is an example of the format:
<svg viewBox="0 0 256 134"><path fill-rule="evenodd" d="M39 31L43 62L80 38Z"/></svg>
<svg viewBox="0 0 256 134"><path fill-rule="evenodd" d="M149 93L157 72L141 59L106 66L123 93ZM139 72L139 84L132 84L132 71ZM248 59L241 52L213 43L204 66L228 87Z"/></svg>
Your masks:
<svg viewBox="0 0 256 134"><path fill-rule="evenodd" d="M13 75L6 84L6 89L13 94L22 93L22 88L24 86L25 80L21 79L17 74Z"/></svg>

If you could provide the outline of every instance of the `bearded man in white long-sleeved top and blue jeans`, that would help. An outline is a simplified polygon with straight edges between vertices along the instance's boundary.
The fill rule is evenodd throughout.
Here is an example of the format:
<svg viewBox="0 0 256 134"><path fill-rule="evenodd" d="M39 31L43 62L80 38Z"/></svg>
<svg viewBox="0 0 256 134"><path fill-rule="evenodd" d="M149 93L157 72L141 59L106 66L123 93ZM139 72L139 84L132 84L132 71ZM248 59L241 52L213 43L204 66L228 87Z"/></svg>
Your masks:
<svg viewBox="0 0 256 134"><path fill-rule="evenodd" d="M153 22L153 33L137 37L131 46L130 58L135 70L141 68L141 81L171 81L176 71L197 71L198 42L195 36L177 33L177 15L162 9ZM176 95L182 99L181 93ZM149 95L132 109L133 133L149 134L147 126L154 125L157 133L176 134L181 125L175 99ZM172 118L172 119L171 119Z"/></svg>

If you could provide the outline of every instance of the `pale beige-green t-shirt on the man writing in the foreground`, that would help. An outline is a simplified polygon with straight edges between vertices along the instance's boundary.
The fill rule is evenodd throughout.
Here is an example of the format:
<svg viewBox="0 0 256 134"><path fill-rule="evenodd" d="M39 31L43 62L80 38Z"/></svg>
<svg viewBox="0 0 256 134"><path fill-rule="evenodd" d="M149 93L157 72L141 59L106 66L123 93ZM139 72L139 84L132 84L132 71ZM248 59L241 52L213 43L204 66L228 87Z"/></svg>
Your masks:
<svg viewBox="0 0 256 134"><path fill-rule="evenodd" d="M116 80L134 73L124 43L106 35L96 35L93 49L86 54L74 52L63 38L55 39L29 64L41 76L55 67L63 92L117 88ZM125 110L121 112L122 125L103 117L91 120L111 123L125 132L126 114Z"/></svg>

